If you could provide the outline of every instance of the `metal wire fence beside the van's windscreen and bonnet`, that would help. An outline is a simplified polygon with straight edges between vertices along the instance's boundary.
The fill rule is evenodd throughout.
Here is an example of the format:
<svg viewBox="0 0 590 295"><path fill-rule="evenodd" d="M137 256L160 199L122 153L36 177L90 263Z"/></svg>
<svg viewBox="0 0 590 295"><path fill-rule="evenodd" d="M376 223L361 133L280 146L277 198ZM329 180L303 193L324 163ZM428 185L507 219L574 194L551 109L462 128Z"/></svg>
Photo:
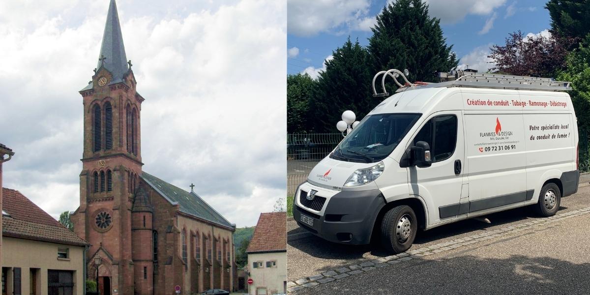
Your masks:
<svg viewBox="0 0 590 295"><path fill-rule="evenodd" d="M329 155L340 140L340 133L296 133L287 135L287 195L295 194L317 162Z"/></svg>

